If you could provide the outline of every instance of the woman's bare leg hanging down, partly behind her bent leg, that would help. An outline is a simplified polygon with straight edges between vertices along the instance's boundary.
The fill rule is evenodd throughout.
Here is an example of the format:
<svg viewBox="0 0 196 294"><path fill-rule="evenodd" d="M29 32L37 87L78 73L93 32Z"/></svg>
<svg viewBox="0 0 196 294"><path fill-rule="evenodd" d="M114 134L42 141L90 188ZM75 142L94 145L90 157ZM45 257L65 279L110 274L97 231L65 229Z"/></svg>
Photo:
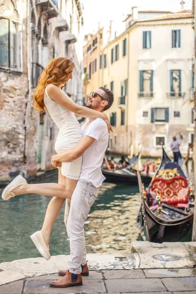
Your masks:
<svg viewBox="0 0 196 294"><path fill-rule="evenodd" d="M62 175L61 170L59 169L58 184L63 185L64 181L65 181L65 177ZM44 223L41 229L42 235L44 237L44 240L47 246L49 245L49 238L50 238L52 227L54 225L54 222L56 221L56 218L64 202L65 202L64 198L58 198L58 197L53 197L49 202Z"/></svg>

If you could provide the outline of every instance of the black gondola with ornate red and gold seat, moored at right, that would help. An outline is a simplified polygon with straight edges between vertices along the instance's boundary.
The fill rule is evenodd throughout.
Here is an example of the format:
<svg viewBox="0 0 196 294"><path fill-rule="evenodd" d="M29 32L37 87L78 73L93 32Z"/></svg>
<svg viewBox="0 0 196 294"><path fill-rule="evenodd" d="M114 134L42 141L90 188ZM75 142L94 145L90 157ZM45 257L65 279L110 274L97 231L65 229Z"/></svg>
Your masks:
<svg viewBox="0 0 196 294"><path fill-rule="evenodd" d="M144 241L178 242L192 228L194 191L180 166L163 148L162 161L147 190L138 174L141 210L138 223Z"/></svg>

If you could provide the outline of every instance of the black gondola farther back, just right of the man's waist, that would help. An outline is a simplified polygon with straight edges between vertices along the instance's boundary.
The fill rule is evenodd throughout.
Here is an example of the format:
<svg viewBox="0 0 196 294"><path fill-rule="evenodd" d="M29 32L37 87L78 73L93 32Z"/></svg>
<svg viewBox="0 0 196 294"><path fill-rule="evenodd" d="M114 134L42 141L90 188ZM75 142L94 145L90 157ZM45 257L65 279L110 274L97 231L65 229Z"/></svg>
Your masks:
<svg viewBox="0 0 196 294"><path fill-rule="evenodd" d="M139 154L135 155L129 160L129 166L122 170L101 169L103 175L106 177L105 182L132 186L138 185L137 173L132 169L133 165L137 163L138 158ZM148 175L141 175L141 177L143 183L146 185L148 185L152 179L152 177Z"/></svg>

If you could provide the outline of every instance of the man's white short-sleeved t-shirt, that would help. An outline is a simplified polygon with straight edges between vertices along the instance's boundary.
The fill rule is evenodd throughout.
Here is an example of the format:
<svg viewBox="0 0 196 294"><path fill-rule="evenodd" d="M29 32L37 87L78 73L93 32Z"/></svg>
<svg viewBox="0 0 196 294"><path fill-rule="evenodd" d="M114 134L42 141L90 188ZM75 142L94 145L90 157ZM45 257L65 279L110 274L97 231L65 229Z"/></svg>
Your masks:
<svg viewBox="0 0 196 294"><path fill-rule="evenodd" d="M103 156L108 146L109 134L107 123L102 119L95 119L87 125L89 121L83 124L82 133L84 136L95 138L95 142L84 152L82 159L82 169L80 180L92 182L98 188L101 186L105 177L101 172Z"/></svg>

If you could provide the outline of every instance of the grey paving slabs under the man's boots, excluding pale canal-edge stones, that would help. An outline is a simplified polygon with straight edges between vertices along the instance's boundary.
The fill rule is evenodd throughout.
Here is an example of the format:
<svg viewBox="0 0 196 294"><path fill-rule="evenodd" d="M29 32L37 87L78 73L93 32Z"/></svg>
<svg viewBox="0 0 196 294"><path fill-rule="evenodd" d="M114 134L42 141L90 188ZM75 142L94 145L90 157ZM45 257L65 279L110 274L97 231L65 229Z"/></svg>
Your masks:
<svg viewBox="0 0 196 294"><path fill-rule="evenodd" d="M196 294L196 269L92 270L83 277L82 286L51 288L49 282L58 278L58 274L49 274L11 282L0 286L0 294Z"/></svg>

